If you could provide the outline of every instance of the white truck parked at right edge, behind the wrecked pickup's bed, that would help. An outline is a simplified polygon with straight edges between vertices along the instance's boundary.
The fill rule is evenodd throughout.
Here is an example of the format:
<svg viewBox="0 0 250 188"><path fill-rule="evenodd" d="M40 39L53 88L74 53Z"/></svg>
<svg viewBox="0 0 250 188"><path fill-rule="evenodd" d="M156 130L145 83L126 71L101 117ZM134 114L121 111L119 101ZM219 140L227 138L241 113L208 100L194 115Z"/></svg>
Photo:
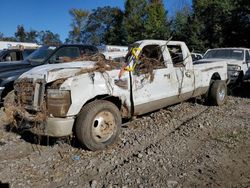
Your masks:
<svg viewBox="0 0 250 188"><path fill-rule="evenodd" d="M197 64L225 61L228 65L230 84L239 84L250 78L250 49L247 48L215 48L208 50Z"/></svg>

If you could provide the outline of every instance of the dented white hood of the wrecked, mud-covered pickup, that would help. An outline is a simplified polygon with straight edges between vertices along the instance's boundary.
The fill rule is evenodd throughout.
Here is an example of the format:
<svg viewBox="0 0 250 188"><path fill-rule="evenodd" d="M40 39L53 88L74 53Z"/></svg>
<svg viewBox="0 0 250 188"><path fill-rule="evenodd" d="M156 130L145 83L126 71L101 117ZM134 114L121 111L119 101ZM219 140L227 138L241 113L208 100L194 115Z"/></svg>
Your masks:
<svg viewBox="0 0 250 188"><path fill-rule="evenodd" d="M85 69L94 68L93 61L78 61L60 64L47 64L35 67L28 72L25 72L20 78L45 79L47 83L53 82L62 78L75 76Z"/></svg>

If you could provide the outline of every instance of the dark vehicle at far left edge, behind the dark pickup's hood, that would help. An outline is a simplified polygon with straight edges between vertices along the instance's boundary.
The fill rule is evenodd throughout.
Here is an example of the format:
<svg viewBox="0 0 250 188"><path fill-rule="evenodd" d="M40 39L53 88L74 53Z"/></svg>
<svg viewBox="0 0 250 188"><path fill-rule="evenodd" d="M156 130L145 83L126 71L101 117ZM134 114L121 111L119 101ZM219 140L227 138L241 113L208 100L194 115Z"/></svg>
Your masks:
<svg viewBox="0 0 250 188"><path fill-rule="evenodd" d="M0 51L0 61L22 61L37 48L9 48Z"/></svg>

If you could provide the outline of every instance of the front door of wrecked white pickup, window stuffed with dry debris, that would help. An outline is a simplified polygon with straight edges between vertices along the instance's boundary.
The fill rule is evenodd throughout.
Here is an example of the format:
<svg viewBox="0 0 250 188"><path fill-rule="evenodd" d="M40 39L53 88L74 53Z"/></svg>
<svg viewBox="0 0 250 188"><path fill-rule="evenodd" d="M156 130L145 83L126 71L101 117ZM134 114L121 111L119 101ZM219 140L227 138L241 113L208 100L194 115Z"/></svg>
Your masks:
<svg viewBox="0 0 250 188"><path fill-rule="evenodd" d="M143 114L175 103L178 85L164 47L144 46L133 71L135 114Z"/></svg>

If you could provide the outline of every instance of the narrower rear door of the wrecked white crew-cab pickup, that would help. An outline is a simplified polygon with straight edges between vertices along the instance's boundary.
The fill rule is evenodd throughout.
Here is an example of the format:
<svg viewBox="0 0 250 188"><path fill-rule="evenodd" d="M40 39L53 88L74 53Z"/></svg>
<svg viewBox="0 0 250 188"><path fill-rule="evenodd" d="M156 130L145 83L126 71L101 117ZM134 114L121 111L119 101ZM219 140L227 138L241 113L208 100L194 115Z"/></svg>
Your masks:
<svg viewBox="0 0 250 188"><path fill-rule="evenodd" d="M182 44L168 45L168 50L177 80L178 97L180 101L183 101L192 97L195 89L192 57L188 53L187 47Z"/></svg>

